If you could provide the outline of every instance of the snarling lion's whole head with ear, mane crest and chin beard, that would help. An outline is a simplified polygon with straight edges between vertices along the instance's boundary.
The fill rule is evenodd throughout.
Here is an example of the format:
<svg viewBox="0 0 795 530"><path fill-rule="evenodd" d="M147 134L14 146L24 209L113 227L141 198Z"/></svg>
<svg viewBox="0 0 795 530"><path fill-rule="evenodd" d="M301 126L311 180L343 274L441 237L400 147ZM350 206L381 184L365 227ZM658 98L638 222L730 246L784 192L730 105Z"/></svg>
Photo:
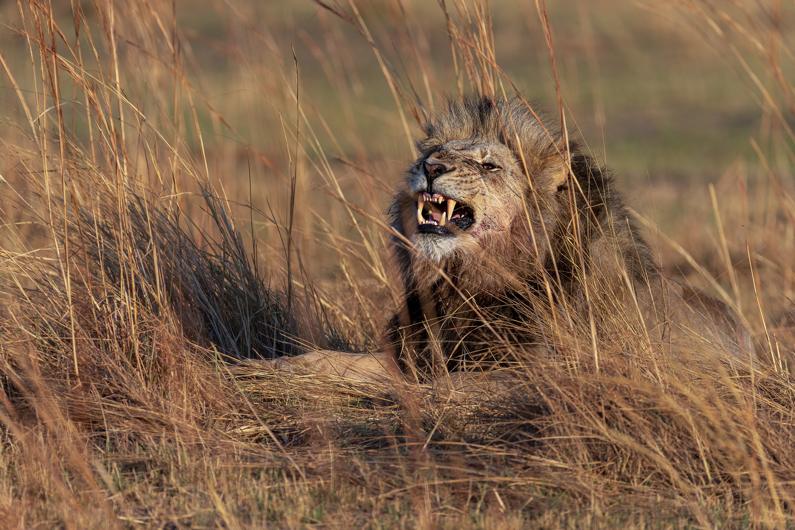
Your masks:
<svg viewBox="0 0 795 530"><path fill-rule="evenodd" d="M421 156L390 207L392 226L415 247L394 238L407 292L445 284L440 272L462 292L521 290L563 247L556 234L572 208L559 136L511 104L449 99L423 125Z"/></svg>

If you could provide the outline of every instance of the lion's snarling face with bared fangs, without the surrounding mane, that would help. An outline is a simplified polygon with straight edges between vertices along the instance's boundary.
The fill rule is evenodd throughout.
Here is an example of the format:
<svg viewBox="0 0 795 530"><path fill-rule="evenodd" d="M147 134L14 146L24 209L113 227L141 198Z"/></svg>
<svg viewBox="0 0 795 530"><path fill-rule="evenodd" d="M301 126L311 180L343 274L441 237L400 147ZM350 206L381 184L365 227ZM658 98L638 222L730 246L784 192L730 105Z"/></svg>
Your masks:
<svg viewBox="0 0 795 530"><path fill-rule="evenodd" d="M453 140L409 168L405 235L431 261L485 248L522 211L526 179L501 143Z"/></svg>

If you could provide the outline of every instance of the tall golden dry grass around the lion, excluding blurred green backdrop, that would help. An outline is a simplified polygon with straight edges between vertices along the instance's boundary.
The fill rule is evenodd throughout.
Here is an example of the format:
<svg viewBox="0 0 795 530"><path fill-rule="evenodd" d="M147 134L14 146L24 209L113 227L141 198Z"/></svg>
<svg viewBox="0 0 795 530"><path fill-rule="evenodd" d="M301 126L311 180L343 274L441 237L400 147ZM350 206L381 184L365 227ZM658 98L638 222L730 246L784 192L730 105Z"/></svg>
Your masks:
<svg viewBox="0 0 795 530"><path fill-rule="evenodd" d="M758 63L743 54L770 68L757 87L778 123L768 140L792 157L793 91L771 48L781 42L757 38L755 11L688 6L728 26L719 37L749 72ZM378 48L347 7L335 7L342 23ZM510 91L487 4L448 8L461 87ZM678 243L650 222L683 273L743 310L762 369L666 362L630 330L599 338L595 369L590 342L581 350L550 323L555 355L514 345L519 362L503 369L510 379L491 376L494 393L274 372L241 361L377 346L399 302L379 220L389 178L342 149L327 156L316 131L328 124L301 99L300 73L296 86L293 65L246 48L249 37L268 48L267 35L241 22L246 38L226 51L270 90L262 115L283 132L281 154L204 95L171 5L87 9L64 23L21 4L30 63L4 59L18 100L0 135L2 528L795 526L791 314L761 288L787 292L793 278L784 165L762 156L758 181L727 172L717 189L736 186L737 199L702 191L712 200L694 215L715 215L714 253L707 236ZM410 136L422 113L410 76L382 65ZM246 165L270 172L267 189L224 180ZM304 195L310 173L322 199ZM741 230L743 249L726 235ZM774 253L754 253L762 246ZM336 280L321 280L329 269Z"/></svg>

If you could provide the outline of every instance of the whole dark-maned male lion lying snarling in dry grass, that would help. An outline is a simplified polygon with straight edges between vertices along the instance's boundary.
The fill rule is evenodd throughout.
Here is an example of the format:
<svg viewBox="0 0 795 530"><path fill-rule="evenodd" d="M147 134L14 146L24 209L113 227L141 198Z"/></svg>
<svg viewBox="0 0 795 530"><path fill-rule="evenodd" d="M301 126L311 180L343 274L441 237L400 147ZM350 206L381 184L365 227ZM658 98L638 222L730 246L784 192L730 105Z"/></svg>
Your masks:
<svg viewBox="0 0 795 530"><path fill-rule="evenodd" d="M594 349L594 335L631 330L657 354L754 362L735 313L662 275L606 169L551 123L522 99L476 95L425 122L389 210L405 304L386 347L400 372L429 381L514 364L522 348L552 354L550 323ZM267 363L363 380L394 366L328 350Z"/></svg>

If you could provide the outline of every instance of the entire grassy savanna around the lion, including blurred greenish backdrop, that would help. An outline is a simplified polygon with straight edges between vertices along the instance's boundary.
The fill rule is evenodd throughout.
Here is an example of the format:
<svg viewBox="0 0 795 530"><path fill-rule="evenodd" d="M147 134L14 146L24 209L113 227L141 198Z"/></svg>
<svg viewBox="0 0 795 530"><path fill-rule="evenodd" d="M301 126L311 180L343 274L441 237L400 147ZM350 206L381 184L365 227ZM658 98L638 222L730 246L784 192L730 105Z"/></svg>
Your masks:
<svg viewBox="0 0 795 530"><path fill-rule="evenodd" d="M0 527L795 527L795 6L332 9L0 5ZM630 330L599 369L565 330L555 363L517 346L497 400L239 366L378 347L417 118L507 79L762 368L631 357Z"/></svg>

